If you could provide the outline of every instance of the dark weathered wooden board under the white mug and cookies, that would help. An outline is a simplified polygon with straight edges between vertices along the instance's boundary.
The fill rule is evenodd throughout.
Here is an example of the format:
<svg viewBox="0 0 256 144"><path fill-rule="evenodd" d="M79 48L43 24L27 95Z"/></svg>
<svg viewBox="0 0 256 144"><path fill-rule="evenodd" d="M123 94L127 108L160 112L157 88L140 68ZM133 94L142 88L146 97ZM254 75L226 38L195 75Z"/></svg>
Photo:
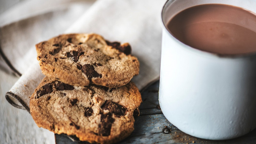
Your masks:
<svg viewBox="0 0 256 144"><path fill-rule="evenodd" d="M158 103L159 81L142 93L140 116L135 119L133 133L119 144L256 144L256 130L231 140L211 141L187 135L166 120ZM55 135L56 144L87 144L73 142L65 135Z"/></svg>

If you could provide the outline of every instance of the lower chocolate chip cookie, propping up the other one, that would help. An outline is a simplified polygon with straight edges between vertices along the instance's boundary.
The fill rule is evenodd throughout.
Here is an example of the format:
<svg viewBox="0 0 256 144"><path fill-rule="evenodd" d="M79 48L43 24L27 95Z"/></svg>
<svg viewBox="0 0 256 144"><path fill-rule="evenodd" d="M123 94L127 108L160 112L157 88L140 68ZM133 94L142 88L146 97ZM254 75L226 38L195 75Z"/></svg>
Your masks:
<svg viewBox="0 0 256 144"><path fill-rule="evenodd" d="M45 77L30 98L30 112L38 127L107 144L131 134L141 102L132 82L118 88L82 87Z"/></svg>

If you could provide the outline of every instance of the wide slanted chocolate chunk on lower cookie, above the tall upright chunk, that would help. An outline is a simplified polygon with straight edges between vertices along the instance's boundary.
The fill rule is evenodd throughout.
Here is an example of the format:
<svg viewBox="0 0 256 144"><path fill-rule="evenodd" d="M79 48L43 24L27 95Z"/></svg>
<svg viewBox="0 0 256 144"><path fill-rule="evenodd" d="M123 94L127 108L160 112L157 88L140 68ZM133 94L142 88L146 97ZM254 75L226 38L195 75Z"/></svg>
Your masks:
<svg viewBox="0 0 256 144"><path fill-rule="evenodd" d="M101 108L103 110L109 110L110 113L114 113L116 116L125 115L126 112L125 107L111 100L106 100L105 103L101 106Z"/></svg>

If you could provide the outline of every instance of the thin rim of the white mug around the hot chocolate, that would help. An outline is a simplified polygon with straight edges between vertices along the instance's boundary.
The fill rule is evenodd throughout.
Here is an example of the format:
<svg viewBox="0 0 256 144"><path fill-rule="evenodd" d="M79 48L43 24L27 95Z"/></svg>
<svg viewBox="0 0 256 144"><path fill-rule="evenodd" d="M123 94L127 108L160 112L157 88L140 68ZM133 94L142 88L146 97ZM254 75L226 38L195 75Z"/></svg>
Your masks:
<svg viewBox="0 0 256 144"><path fill-rule="evenodd" d="M175 40L177 43L179 43L180 45L182 45L184 48L186 49L191 49L192 51L194 52L198 52L198 53L201 53L201 54L205 54L205 55L210 55L210 56L213 56L213 57L219 57L219 58L247 58L247 57L256 57L256 51L255 52L251 52L251 53L243 53L243 54L219 54L219 53L214 53L214 52L208 52L208 51L204 51L204 50L200 50L200 49L197 49L197 48L194 48L194 47L191 47L183 42L181 42L180 40L178 40L176 37L174 37L172 35L172 33L168 30L167 26L164 24L164 20L163 20L163 15L164 15L164 9L166 8L167 6L167 3L169 1L172 1L171 3L173 3L174 1L176 0L167 0L162 8L162 11L161 11L161 20L162 20L162 26L163 28L168 32L168 35L173 39ZM171 4L170 3L170 4ZM216 3L217 4L217 3Z"/></svg>

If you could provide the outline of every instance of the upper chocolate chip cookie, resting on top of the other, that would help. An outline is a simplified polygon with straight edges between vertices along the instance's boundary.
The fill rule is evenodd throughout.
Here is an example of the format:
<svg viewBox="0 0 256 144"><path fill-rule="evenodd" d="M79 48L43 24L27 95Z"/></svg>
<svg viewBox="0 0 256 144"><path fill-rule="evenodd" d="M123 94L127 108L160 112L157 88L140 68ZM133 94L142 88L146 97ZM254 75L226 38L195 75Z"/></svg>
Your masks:
<svg viewBox="0 0 256 144"><path fill-rule="evenodd" d="M36 45L40 68L61 82L120 87L139 74L139 61L128 43L109 42L97 34L65 34Z"/></svg>

